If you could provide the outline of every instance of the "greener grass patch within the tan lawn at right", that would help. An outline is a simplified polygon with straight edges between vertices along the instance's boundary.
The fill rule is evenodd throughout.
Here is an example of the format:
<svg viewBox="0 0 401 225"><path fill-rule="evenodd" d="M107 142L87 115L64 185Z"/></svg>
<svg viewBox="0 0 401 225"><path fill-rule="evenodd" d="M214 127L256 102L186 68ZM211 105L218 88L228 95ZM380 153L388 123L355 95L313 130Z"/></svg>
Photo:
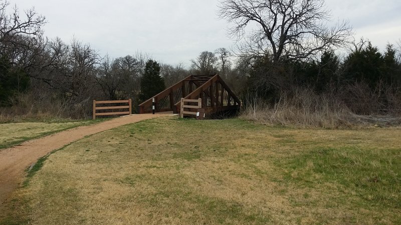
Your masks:
<svg viewBox="0 0 401 225"><path fill-rule="evenodd" d="M313 188L333 183L341 192L358 197L359 206L400 208L399 152L401 148L317 147L280 158L276 164L286 170L285 180L295 185Z"/></svg>

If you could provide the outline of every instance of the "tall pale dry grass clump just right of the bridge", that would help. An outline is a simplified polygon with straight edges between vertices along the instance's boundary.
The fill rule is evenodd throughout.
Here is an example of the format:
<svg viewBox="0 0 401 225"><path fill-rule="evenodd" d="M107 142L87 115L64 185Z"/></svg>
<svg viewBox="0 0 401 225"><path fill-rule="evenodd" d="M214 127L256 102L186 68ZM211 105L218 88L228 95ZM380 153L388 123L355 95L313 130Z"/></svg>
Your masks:
<svg viewBox="0 0 401 225"><path fill-rule="evenodd" d="M264 124L307 125L336 128L345 125L344 115L349 113L345 104L331 93L316 94L311 88L283 91L274 105L247 95L242 117Z"/></svg>

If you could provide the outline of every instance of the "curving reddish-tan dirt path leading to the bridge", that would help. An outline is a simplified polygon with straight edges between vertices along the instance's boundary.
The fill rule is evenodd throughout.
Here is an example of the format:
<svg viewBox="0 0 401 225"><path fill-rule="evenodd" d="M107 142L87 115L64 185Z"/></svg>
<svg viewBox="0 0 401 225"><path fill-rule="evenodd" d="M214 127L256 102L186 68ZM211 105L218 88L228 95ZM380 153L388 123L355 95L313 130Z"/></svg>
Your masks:
<svg viewBox="0 0 401 225"><path fill-rule="evenodd" d="M26 141L20 145L0 150L0 207L7 197L25 178L24 170L40 157L59 149L66 144L120 125L138 122L144 119L169 116L169 113L132 114L118 117L98 124L81 126L53 135Z"/></svg>

